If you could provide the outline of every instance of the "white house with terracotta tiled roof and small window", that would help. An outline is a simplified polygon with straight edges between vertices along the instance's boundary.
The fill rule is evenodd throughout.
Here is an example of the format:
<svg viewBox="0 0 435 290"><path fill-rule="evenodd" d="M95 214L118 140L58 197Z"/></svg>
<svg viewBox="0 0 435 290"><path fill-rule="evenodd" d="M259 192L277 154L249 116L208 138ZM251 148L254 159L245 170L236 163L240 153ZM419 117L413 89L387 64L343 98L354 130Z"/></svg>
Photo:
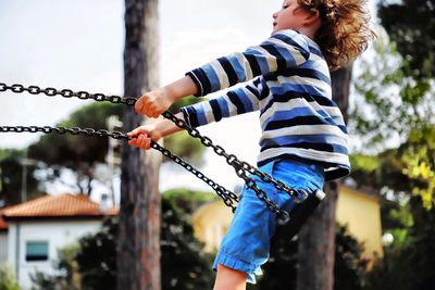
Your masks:
<svg viewBox="0 0 435 290"><path fill-rule="evenodd" d="M0 210L0 263L11 267L21 289L35 272L53 274L58 250L100 229L116 215L84 194L45 196Z"/></svg>

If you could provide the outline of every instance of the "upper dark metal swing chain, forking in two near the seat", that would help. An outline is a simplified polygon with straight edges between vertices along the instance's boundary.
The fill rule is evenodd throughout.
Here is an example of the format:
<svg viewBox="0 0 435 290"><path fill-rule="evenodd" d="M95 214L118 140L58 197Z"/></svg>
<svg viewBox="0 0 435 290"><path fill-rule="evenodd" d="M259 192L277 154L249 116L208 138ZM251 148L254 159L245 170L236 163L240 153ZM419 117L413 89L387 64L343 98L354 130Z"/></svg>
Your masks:
<svg viewBox="0 0 435 290"><path fill-rule="evenodd" d="M91 100L95 100L98 102L107 101L107 102L111 102L111 103L122 103L122 104L126 104L126 105L135 105L135 103L137 101L135 98L122 98L119 96L105 96L103 93L89 93L86 91L74 92L70 89L57 90L54 88L41 89L38 86L24 87L23 85L17 85L17 84L8 86L7 84L0 83L0 92L7 91L7 90L11 90L15 93L22 93L24 91L27 91L32 94L44 93L48 97L55 97L55 96L60 96L63 98L76 97L80 100L91 99ZM165 118L169 118L172 122L174 122L178 127L185 129L191 137L199 139L201 141L201 143L204 144L206 147L212 148L213 151L217 155L225 157L226 163L235 169L237 176L239 176L241 179L245 180L247 187L252 189L256 192L257 197L265 203L265 205L272 213L277 214L277 216L282 223L286 223L288 220L288 218L289 218L288 213L285 211L279 211L276 203L274 203L273 201L271 201L268 198L268 194L257 186L257 182L252 178L250 178L247 175L247 173L257 175L264 182L271 182L277 190L288 193L296 203L301 203L307 199L308 193L304 190L293 189L293 188L286 186L284 182L282 182L279 180L275 180L271 175L269 175L266 173L262 173L261 171L259 171L254 166L248 164L247 162L238 160L236 155L226 153L222 147L213 144L212 140L209 137L202 136L198 129L190 127L185 121L177 118L171 112L169 112L169 111L163 112L162 115ZM166 149L163 149L163 150L166 150ZM161 150L159 150L159 151L161 151ZM175 156L175 157L177 157L177 156ZM187 167L184 165L182 165L182 166L185 167L187 171L189 171L188 168L191 167L190 165L186 165ZM199 177L199 178L201 179L201 177ZM208 179L208 180L211 181L211 179ZM206 182L209 182L209 181L206 181ZM225 189L225 191L231 192L226 189Z"/></svg>

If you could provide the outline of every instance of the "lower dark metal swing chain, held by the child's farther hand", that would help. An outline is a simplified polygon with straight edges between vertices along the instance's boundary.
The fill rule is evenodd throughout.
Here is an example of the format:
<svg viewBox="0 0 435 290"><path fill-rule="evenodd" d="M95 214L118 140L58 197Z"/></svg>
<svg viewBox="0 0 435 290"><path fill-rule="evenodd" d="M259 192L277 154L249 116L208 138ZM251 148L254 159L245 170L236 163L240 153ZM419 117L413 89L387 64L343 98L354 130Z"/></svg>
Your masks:
<svg viewBox="0 0 435 290"><path fill-rule="evenodd" d="M50 126L0 126L0 133L44 133L44 134L71 134L71 135L85 135L85 136L94 136L100 138L113 138L113 139L123 139L123 140L132 140L132 137L128 137L126 134L121 131L108 131L104 129L92 129L92 128L78 128L78 127L50 127ZM208 178L203 173L188 164L182 157L173 154L170 150L159 146L157 142L151 141L151 147L156 150L159 150L164 156L171 159L176 164L183 166L188 172L194 174L196 177L204 181L208 186L210 186L216 194L223 200L223 202L229 206L233 213L236 211L235 202L238 202L238 197L236 193L227 190L226 188L220 186L214 182L212 179Z"/></svg>

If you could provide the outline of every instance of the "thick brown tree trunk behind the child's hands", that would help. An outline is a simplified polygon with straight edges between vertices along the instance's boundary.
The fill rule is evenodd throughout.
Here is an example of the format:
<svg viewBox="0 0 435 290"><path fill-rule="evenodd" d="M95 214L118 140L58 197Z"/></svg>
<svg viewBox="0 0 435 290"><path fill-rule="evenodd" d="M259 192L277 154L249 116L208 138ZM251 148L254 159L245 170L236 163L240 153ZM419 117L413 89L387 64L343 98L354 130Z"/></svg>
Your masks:
<svg viewBox="0 0 435 290"><path fill-rule="evenodd" d="M158 0L125 0L124 90L139 97L158 86ZM144 122L133 108L125 130ZM153 151L153 150L152 150ZM117 289L160 290L160 154L122 149Z"/></svg>

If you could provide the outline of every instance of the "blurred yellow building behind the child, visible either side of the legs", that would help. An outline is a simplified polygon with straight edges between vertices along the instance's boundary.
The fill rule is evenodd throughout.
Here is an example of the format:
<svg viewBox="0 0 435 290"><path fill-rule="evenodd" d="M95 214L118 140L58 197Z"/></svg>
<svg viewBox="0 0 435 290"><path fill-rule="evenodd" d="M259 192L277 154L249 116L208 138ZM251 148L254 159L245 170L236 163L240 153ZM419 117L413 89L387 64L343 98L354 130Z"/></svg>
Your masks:
<svg viewBox="0 0 435 290"><path fill-rule="evenodd" d="M221 200L200 206L191 217L195 236L206 244L206 251L215 251L233 217ZM347 225L349 232L364 244L363 256L373 260L383 255L381 204L373 194L349 187L339 188L336 219Z"/></svg>

